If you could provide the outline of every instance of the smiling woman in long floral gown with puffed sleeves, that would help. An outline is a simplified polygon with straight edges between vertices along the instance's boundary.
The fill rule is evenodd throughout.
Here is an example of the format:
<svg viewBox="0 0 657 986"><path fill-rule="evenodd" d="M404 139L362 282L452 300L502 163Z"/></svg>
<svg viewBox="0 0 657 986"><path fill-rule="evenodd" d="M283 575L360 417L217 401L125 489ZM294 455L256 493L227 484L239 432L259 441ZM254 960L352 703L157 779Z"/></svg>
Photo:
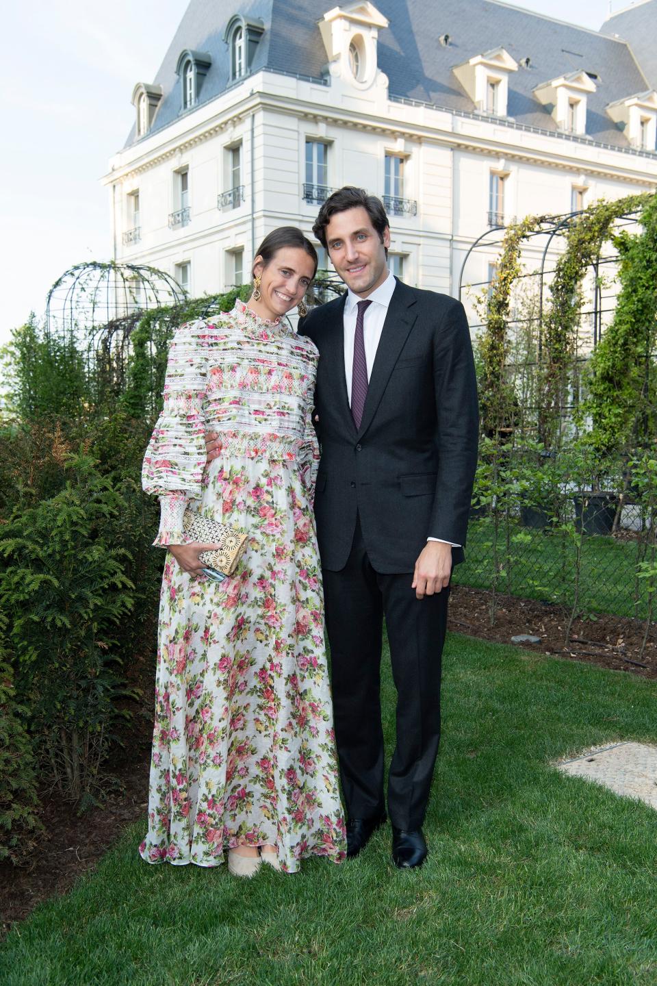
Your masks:
<svg viewBox="0 0 657 986"><path fill-rule="evenodd" d="M264 860L345 856L312 495L317 350L283 316L313 246L285 227L247 305L175 333L143 485L168 548L160 607L149 831L142 857L252 876ZM205 433L221 455L206 465ZM186 508L248 534L235 575L203 574Z"/></svg>

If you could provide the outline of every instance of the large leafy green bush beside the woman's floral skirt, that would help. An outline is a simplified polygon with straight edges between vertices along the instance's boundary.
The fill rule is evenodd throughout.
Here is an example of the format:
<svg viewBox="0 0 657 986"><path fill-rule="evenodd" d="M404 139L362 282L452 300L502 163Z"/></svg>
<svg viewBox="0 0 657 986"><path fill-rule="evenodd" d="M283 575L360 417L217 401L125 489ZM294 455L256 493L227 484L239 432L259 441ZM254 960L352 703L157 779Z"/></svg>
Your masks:
<svg viewBox="0 0 657 986"><path fill-rule="evenodd" d="M68 457L53 497L3 527L0 606L9 616L19 700L59 789L88 800L125 693L116 625L134 605L117 546L128 510L94 460ZM83 802L84 807L84 802Z"/></svg>

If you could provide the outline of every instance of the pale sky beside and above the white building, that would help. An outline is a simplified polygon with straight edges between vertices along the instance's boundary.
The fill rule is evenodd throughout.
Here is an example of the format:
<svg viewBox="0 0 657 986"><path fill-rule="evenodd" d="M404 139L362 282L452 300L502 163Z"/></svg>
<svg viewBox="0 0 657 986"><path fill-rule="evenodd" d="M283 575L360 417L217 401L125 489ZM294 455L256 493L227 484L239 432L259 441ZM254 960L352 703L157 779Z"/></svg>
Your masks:
<svg viewBox="0 0 657 986"><path fill-rule="evenodd" d="M186 6L186 0L3 6L0 343L31 311L43 314L49 286L68 267L110 258L108 191L99 178L132 125L135 83L155 78ZM610 9L609 0L513 6L593 31ZM627 0L613 0L615 11L626 6Z"/></svg>

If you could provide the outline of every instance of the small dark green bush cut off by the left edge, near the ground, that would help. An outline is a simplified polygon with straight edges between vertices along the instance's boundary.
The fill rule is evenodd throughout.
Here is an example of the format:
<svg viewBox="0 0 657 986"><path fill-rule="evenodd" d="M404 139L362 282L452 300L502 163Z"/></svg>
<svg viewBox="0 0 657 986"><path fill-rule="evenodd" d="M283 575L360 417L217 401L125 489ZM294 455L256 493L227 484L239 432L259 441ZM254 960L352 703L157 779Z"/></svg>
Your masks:
<svg viewBox="0 0 657 986"><path fill-rule="evenodd" d="M27 863L43 831L38 817L32 742L17 705L14 671L5 648L0 619L0 861Z"/></svg>

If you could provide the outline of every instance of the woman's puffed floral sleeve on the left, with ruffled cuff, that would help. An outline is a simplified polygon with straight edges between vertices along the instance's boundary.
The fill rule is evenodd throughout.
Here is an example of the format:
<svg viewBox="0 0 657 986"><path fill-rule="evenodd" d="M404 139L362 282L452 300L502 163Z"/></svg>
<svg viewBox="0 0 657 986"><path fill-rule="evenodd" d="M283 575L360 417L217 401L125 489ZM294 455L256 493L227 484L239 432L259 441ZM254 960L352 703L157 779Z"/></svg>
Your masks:
<svg viewBox="0 0 657 986"><path fill-rule="evenodd" d="M201 499L206 463L204 399L207 379L205 321L186 322L171 341L164 378L164 407L142 466L142 486L160 497L155 544L181 544L188 500Z"/></svg>

